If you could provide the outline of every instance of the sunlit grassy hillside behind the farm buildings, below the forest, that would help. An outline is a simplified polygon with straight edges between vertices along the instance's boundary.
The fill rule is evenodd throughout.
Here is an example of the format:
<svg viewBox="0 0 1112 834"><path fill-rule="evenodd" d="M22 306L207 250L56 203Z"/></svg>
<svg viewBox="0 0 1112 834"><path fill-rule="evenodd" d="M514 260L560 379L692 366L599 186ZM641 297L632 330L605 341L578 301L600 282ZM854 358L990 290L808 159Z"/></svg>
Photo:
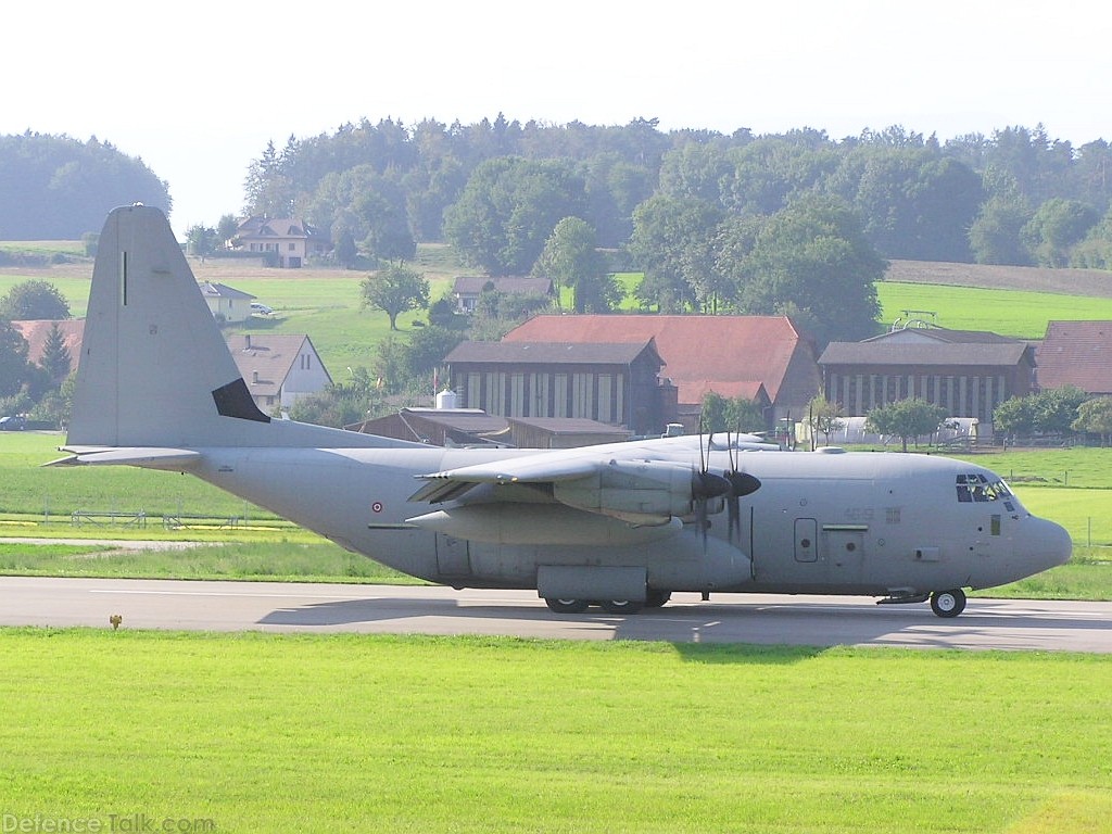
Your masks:
<svg viewBox="0 0 1112 834"><path fill-rule="evenodd" d="M18 245L24 249L32 244ZM70 247L79 246L70 244ZM63 250L66 247L62 247ZM68 251L68 250L67 250ZM228 284L258 297L275 308L270 319L255 319L250 327L282 334L308 334L334 376L347 367L370 366L375 346L389 332L386 314L364 309L359 282L366 272L308 268L281 270L251 260L190 259L198 280ZM451 290L455 276L468 274L444 244L418 247L417 267L431 282L431 297ZM51 281L70 304L75 316L83 316L89 297L92 262L49 268L0 268L0 295L30 278ZM622 272L618 280L627 292L626 311L636 310L633 290L639 275ZM877 284L881 325L896 319L923 318L953 329L992 330L1004 336L1041 339L1046 322L1055 319L1112 319L1112 272L1085 269L992 267L971 264L892 261L884 281ZM566 301L569 304L570 298ZM934 315L927 315L927 311ZM404 314L403 331L423 312ZM229 328L237 332L242 328Z"/></svg>

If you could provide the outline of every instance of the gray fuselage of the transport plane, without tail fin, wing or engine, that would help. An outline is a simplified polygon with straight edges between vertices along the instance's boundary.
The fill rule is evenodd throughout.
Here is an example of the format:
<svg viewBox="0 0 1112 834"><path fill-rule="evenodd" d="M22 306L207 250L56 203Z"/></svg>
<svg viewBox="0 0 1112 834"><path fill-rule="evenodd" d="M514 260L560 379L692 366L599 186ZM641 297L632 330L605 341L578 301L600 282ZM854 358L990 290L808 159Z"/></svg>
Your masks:
<svg viewBox="0 0 1112 834"><path fill-rule="evenodd" d="M698 519L633 525L522 485L484 486L488 500L471 495L440 509L401 497L423 474L526 450L200 451L192 473L203 479L354 552L456 587L536 588L566 568L597 568L583 584L597 578L606 587L623 582L613 569L634 568L659 592L911 597L1005 584L1070 553L1064 530L1031 516L997 476L942 457L742 453L739 468L761 486L739 499L733 524L724 507L712 507L704 537ZM725 454L709 456L711 471L727 467ZM430 510L435 528L417 526Z"/></svg>

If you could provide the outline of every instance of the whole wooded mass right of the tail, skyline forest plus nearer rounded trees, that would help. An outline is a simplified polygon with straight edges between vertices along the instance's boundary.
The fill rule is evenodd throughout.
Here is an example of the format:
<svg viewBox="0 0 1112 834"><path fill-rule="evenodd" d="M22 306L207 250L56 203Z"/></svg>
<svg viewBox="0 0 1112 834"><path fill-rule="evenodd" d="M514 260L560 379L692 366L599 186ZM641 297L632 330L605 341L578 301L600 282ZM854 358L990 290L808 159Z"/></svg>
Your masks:
<svg viewBox="0 0 1112 834"><path fill-rule="evenodd" d="M1110 159L1042 126L940 142L387 119L269 143L245 196L327 229L344 264L444 240L487 275L573 287L577 311L612 307L607 272L641 271L644 310L787 314L822 345L875 331L886 258L1112 267Z"/></svg>

